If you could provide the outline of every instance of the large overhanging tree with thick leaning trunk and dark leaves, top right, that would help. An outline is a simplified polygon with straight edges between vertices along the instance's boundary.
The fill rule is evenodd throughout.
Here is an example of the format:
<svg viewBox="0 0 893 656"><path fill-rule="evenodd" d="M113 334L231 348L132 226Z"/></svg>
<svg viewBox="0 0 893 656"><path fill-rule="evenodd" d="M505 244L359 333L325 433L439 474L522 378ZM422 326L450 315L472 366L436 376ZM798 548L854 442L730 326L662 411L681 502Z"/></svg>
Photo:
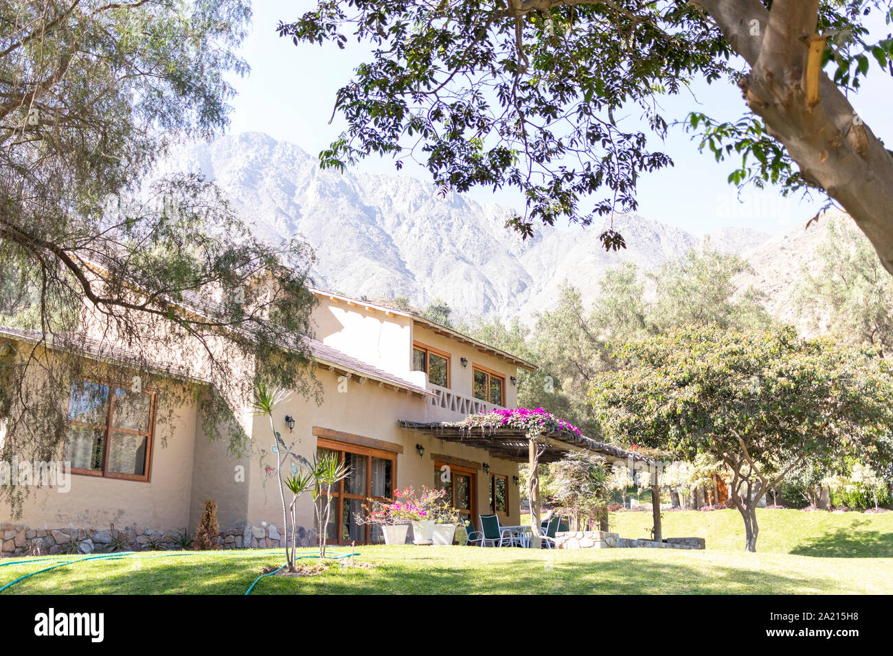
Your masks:
<svg viewBox="0 0 893 656"><path fill-rule="evenodd" d="M737 84L739 119L690 115L703 147L741 157L730 181L822 190L893 272L893 158L849 99L893 72L893 39L866 27L888 12L880 0L319 0L279 33L371 46L338 91L347 129L323 165L391 154L399 168L413 154L444 188L516 187L526 211L510 223L525 235L634 210L639 173L672 164L651 145L667 129L660 96ZM611 226L600 237L624 245Z"/></svg>

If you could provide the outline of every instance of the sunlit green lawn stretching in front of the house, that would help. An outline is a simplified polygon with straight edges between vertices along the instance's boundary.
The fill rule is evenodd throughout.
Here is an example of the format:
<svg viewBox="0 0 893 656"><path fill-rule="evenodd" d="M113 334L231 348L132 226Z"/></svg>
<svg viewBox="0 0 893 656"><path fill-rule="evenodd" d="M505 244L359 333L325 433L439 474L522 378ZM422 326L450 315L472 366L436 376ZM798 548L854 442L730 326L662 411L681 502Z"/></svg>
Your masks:
<svg viewBox="0 0 893 656"><path fill-rule="evenodd" d="M755 554L741 551L736 511L666 512L665 535L704 536L707 550L363 546L356 562L376 567L333 563L312 577L264 577L252 594L893 593L893 513L761 511L759 517L762 551ZM612 529L643 536L649 519L614 513ZM273 551L138 556L146 558L71 563L0 594L243 594L263 567L283 562ZM0 567L0 586L51 561L77 558Z"/></svg>

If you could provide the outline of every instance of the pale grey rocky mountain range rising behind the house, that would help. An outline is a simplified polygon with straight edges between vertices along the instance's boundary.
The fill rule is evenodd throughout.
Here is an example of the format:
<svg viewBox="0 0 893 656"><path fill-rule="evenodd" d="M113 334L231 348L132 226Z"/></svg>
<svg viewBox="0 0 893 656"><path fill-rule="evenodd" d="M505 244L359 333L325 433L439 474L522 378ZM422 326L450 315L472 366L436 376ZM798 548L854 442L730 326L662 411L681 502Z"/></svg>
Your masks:
<svg viewBox="0 0 893 656"><path fill-rule="evenodd" d="M655 268L701 243L638 215L615 218L628 245L619 253L605 253L597 227L538 228L522 240L505 228L508 208L440 196L417 179L321 170L296 145L260 133L189 145L162 170L216 180L260 236L303 237L317 253L318 286L370 298L405 296L420 306L440 296L465 317L530 318L554 303L565 278L591 297L602 272L619 262ZM729 253L772 241L748 228L708 237Z"/></svg>

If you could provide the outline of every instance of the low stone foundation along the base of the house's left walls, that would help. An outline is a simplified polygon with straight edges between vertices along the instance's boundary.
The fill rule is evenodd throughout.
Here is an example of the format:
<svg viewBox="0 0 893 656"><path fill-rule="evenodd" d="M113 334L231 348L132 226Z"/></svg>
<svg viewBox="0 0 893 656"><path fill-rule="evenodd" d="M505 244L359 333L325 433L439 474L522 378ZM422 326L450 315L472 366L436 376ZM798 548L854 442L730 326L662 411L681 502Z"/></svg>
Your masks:
<svg viewBox="0 0 893 656"><path fill-rule="evenodd" d="M214 541L221 549L270 549L283 545L285 531L272 524L260 527L226 528ZM30 528L21 524L0 524L0 556L44 555L47 553L93 553L112 549L116 536L123 541L121 551L174 551L179 531L163 531L136 524L124 527L99 528ZM190 535L192 537L192 535ZM316 543L316 529L298 527L297 546L306 548ZM77 551L71 551L76 549Z"/></svg>

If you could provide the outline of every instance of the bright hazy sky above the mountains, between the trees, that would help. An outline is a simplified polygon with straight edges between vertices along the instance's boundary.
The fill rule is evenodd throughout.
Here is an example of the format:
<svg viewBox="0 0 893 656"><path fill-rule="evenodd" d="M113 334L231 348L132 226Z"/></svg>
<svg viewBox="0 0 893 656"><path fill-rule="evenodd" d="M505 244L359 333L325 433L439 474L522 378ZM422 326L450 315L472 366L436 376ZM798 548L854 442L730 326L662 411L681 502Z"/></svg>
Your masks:
<svg viewBox="0 0 893 656"><path fill-rule="evenodd" d="M271 137L290 141L310 154L328 147L344 127L338 117L329 125L335 92L358 62L363 46L348 42L346 50L336 46L294 46L290 39L280 38L276 25L289 21L311 9L313 0L255 0L254 25L244 45L244 56L252 71L246 79L236 81L238 97L230 132L254 130ZM877 35L889 32L878 21ZM893 81L878 72L872 60L870 85L853 100L856 110L880 137L893 131L890 110ZM697 102L714 118L734 120L744 112L739 89L717 83L713 87L699 85L693 89ZM663 101L668 121L682 119L697 104L691 94L668 96ZM657 148L652 141L653 148ZM814 201L784 199L772 190L757 194L748 191L738 199L737 189L726 179L731 162L716 163L712 154L697 152L681 128L672 128L664 152L672 156L671 169L643 175L638 183L638 213L647 219L659 220L695 234L703 234L722 226L747 226L777 233L808 220L818 204ZM393 162L370 158L360 164L369 173L396 175ZM430 181L427 170L407 162L400 175ZM522 211L520 195L513 191L494 194L479 189L469 194L475 200L495 202Z"/></svg>

